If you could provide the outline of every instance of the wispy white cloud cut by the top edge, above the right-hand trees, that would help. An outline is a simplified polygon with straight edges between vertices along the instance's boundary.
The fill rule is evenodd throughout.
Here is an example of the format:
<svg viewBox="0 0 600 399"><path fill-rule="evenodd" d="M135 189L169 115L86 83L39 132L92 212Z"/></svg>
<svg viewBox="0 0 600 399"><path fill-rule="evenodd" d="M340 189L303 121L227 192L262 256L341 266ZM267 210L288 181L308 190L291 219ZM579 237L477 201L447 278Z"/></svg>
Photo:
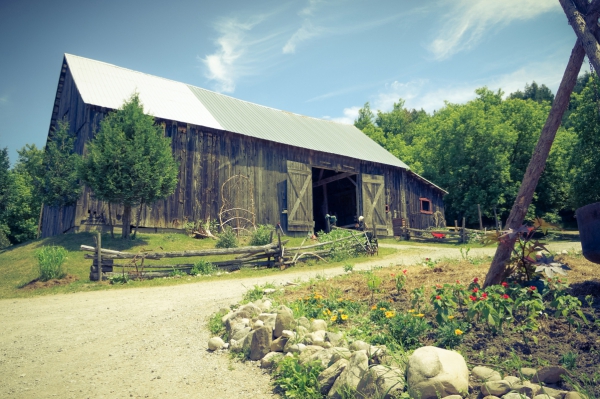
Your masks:
<svg viewBox="0 0 600 399"><path fill-rule="evenodd" d="M549 0L449 0L451 10L429 50L438 60L446 59L478 44L490 29L516 20L528 20L540 14L560 10Z"/></svg>

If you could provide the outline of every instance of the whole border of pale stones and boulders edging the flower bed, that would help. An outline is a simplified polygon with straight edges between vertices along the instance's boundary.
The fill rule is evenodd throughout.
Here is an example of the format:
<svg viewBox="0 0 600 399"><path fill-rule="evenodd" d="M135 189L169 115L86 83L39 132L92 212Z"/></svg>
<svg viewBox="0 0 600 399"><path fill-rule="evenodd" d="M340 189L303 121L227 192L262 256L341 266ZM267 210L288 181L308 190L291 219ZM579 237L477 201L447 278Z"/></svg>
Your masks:
<svg viewBox="0 0 600 399"><path fill-rule="evenodd" d="M385 345L348 343L342 334L327 331L325 320L295 319L291 309L272 309L266 298L230 311L222 322L229 342L211 338L209 350L242 352L250 360L260 361L263 368L274 367L284 356L297 355L301 364L320 362L324 370L319 374L319 385L328 398L341 398L344 392L355 391L357 397L387 399L407 388L412 398L461 399L475 387L469 386L469 369L457 352L425 346L415 350L403 365L388 355ZM542 392L541 385L535 382L555 383L559 377L551 373L546 376L545 369L533 371L532 382L516 377L502 379L498 372L485 367L475 367L473 375L486 399L517 399L518 395L529 399L579 398L574 393L550 388Z"/></svg>

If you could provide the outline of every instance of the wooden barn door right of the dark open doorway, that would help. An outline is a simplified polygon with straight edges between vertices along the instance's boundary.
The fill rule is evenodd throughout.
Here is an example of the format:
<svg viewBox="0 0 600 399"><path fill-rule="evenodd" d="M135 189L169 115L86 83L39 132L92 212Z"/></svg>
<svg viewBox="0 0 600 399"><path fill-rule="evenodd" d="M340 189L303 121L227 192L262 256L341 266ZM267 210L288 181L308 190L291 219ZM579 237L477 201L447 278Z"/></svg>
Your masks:
<svg viewBox="0 0 600 399"><path fill-rule="evenodd" d="M387 235L385 217L385 179L380 175L363 173L362 180L362 205L363 216L369 229L377 229L377 235Z"/></svg>

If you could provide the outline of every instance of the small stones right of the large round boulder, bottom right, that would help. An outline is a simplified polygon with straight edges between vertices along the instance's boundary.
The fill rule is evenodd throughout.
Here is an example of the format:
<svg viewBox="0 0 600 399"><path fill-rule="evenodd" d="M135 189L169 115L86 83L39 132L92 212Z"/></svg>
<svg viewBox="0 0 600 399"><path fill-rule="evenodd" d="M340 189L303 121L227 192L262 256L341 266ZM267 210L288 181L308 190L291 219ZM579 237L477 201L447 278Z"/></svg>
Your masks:
<svg viewBox="0 0 600 399"><path fill-rule="evenodd" d="M474 384L479 386L484 399L581 399L577 392L558 388L567 374L563 367L547 366L539 370L523 367L521 377L505 376L488 367L474 367Z"/></svg>

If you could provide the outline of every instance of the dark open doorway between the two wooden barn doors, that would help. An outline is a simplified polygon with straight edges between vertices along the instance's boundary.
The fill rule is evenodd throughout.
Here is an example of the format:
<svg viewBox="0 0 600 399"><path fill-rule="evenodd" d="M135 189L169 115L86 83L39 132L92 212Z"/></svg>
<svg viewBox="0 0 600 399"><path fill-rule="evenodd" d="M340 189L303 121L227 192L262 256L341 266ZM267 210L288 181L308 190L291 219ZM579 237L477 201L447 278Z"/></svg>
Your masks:
<svg viewBox="0 0 600 399"><path fill-rule="evenodd" d="M325 215L335 215L340 227L353 227L358 217L358 175L312 168L315 232L325 231Z"/></svg>

